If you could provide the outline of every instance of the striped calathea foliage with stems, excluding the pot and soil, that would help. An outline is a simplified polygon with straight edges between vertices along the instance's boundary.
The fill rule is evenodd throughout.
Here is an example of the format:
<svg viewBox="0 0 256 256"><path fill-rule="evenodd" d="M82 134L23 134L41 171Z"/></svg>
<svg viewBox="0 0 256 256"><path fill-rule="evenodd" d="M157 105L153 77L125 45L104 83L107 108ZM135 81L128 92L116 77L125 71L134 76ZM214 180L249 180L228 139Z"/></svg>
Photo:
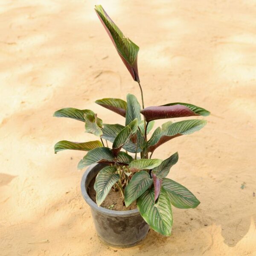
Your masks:
<svg viewBox="0 0 256 256"><path fill-rule="evenodd" d="M96 177L96 203L100 206L114 187L121 193L126 207L136 201L140 214L150 227L170 236L172 205L186 209L195 208L200 202L184 186L166 177L170 168L177 163L178 153L165 160L154 159L152 154L163 143L200 130L206 125L206 120L168 121L155 129L150 138L148 133L156 119L208 116L209 111L181 102L145 108L137 68L139 47L122 34L102 6L96 6L95 11L132 78L140 87L142 108L133 94L128 94L126 101L115 98L96 100L96 104L124 117L124 124L114 125L103 124L102 119L88 109L64 108L56 111L54 116L84 122L85 131L100 140L84 143L59 141L55 144L55 153L65 149L88 151L79 162L79 169L94 163L108 164Z"/></svg>

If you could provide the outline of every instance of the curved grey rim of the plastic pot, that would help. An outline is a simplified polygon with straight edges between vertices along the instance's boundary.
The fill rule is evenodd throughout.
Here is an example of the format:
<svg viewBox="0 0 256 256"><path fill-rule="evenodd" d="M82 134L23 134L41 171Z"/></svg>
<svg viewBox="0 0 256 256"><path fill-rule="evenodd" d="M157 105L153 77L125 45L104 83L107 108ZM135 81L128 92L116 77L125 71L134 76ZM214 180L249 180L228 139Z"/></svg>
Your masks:
<svg viewBox="0 0 256 256"><path fill-rule="evenodd" d="M101 212L101 213L105 213L106 215L111 215L111 216L116 216L116 217L132 217L135 215L139 215L140 212L139 210L133 209L133 210L127 210L127 211L115 211L115 210L110 210L110 209L106 209L104 207L98 206L88 195L87 193L87 188L85 187L85 182L87 180L87 177L89 175L89 173L97 166L99 165L99 163L95 163L92 164L90 166L88 166L88 168L85 170L82 179L81 179L81 192L82 192L82 196L84 198L84 200L87 202L87 204L89 204L89 206L91 208L93 208L94 210Z"/></svg>

